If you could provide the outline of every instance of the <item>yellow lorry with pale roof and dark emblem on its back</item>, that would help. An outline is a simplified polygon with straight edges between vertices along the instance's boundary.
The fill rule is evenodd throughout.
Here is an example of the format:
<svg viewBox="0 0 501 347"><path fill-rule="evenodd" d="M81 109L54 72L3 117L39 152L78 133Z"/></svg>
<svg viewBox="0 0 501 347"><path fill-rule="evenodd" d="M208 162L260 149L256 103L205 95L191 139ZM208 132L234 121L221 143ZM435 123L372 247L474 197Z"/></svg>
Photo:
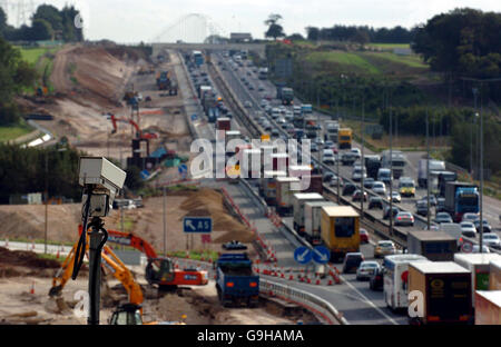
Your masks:
<svg viewBox="0 0 501 347"><path fill-rule="evenodd" d="M351 206L323 206L321 236L331 251L331 261L360 251L360 215Z"/></svg>

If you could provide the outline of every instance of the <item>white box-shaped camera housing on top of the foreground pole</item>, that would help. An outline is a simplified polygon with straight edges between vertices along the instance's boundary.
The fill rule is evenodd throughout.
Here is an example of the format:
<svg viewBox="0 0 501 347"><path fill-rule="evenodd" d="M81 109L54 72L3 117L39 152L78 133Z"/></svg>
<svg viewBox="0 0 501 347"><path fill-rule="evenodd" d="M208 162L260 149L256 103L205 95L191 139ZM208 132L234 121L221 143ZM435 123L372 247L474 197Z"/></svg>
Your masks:
<svg viewBox="0 0 501 347"><path fill-rule="evenodd" d="M86 188L84 201L90 194L90 217L106 217L115 196L124 187L127 174L104 157L81 157L79 184Z"/></svg>

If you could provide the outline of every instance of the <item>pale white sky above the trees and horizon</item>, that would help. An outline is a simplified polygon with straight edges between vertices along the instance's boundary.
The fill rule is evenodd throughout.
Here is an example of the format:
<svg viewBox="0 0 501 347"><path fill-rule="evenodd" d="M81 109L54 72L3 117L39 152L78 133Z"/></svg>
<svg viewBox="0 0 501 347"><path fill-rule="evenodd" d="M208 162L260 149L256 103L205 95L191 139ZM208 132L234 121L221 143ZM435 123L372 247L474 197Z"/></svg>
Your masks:
<svg viewBox="0 0 501 347"><path fill-rule="evenodd" d="M31 0L24 0L29 3ZM4 1L0 1L2 3ZM12 0L11 2L14 2ZM109 39L120 43L189 41L206 32L229 36L250 32L263 39L269 13L283 17L286 34L305 34L305 28L357 24L412 28L433 16L458 7L501 12L500 0L47 0L62 8L75 4L84 16L85 36L90 40ZM9 22L17 12L9 9ZM204 14L208 21L202 20ZM208 30L206 28L209 28Z"/></svg>

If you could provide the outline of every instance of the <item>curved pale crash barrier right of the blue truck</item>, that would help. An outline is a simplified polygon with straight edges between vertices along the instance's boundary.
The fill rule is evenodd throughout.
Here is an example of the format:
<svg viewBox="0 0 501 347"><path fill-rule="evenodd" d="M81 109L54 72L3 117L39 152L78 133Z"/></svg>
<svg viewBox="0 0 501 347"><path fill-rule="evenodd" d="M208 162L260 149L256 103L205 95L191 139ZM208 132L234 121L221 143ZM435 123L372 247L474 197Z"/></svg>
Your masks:
<svg viewBox="0 0 501 347"><path fill-rule="evenodd" d="M311 293L274 282L265 278L259 278L259 293L299 305L307 310L315 313L325 324L348 325L348 321L334 306Z"/></svg>

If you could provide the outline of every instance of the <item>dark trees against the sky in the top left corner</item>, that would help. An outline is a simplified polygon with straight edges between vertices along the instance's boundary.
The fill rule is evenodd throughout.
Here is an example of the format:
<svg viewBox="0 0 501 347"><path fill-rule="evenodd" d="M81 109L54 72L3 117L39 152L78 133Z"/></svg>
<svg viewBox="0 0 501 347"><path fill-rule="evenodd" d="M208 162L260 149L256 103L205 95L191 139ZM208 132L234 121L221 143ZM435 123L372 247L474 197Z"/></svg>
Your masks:
<svg viewBox="0 0 501 347"><path fill-rule="evenodd" d="M14 28L8 24L7 14L0 8L0 36L9 41L84 41L81 26L77 26L79 16L73 6L65 6L62 10L58 10L51 4L41 4L31 18L31 26Z"/></svg>

